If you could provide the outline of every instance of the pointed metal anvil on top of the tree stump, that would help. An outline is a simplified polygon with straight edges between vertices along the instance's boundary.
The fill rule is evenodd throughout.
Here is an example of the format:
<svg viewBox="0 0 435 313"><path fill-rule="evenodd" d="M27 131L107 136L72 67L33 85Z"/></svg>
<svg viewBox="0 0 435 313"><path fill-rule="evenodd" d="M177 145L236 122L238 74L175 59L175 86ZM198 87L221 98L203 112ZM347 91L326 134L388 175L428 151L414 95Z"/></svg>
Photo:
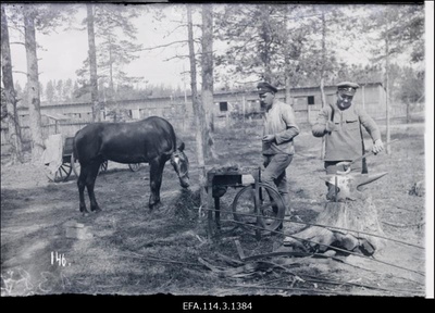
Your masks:
<svg viewBox="0 0 435 313"><path fill-rule="evenodd" d="M388 174L388 172L380 174L348 173L325 175L320 178L337 187L335 201L346 201L346 199L355 201L358 199L364 199L364 196L360 190L362 186L377 180L386 174Z"/></svg>

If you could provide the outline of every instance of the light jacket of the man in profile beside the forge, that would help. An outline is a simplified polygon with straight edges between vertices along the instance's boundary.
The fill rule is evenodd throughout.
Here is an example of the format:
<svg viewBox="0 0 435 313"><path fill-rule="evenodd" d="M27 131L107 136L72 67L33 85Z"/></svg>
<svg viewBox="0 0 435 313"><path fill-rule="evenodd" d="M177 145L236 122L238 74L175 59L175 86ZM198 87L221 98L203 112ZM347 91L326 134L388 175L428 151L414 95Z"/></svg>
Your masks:
<svg viewBox="0 0 435 313"><path fill-rule="evenodd" d="M294 154L293 138L299 134L293 108L281 101L274 101L263 117L263 135L275 135L273 142L263 142L263 154Z"/></svg>

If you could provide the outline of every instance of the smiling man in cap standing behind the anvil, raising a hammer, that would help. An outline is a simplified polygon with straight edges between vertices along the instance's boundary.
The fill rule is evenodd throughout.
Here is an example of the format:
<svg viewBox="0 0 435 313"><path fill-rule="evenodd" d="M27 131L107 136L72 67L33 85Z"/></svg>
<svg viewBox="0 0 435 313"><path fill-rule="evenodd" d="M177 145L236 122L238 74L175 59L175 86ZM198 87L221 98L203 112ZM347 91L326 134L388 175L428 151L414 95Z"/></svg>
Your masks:
<svg viewBox="0 0 435 313"><path fill-rule="evenodd" d="M352 168L347 165L355 159L364 154L364 141L362 137L363 126L372 137L372 150L375 154L384 149L381 132L365 111L352 107L352 99L360 86L355 83L344 82L337 85L337 102L326 105L319 113L312 134L315 137L325 136L325 170L326 174L340 172L368 173L365 163L355 164ZM364 161L364 160L363 160ZM334 200L335 188L331 184L326 199Z"/></svg>

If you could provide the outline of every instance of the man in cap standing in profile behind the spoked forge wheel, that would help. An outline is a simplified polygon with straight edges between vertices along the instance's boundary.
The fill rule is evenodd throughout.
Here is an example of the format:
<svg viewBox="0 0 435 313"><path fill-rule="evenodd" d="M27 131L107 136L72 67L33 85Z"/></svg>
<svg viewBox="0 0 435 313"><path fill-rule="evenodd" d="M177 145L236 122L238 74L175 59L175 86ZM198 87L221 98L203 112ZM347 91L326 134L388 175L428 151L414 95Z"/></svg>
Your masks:
<svg viewBox="0 0 435 313"><path fill-rule="evenodd" d="M288 208L290 201L286 168L290 165L295 153L293 139L299 135L299 127L296 125L293 108L275 99L278 90L274 86L269 83L259 83L257 89L260 104L265 109L262 139L264 172L261 181L276 186Z"/></svg>

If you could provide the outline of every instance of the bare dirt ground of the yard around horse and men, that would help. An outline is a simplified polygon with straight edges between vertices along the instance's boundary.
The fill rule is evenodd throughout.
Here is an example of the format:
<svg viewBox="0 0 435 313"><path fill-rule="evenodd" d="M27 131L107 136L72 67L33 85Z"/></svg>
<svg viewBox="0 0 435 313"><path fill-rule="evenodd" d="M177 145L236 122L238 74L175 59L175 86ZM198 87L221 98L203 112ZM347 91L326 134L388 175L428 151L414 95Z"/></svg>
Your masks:
<svg viewBox="0 0 435 313"><path fill-rule="evenodd" d="M259 127L245 129L243 125L217 130L220 159L208 164L260 165L259 132ZM192 188L182 190L166 164L163 205L152 212L147 206L147 167L133 173L126 165L109 162L108 172L96 183L102 212L84 217L78 211L74 174L55 184L29 164L3 165L1 295L424 297L425 197L412 192L415 183L425 179L424 124L396 126L391 132L391 139L399 139L391 146L393 153L368 159L371 173L389 174L369 185L365 192L374 199L386 236L407 245L388 241L375 258L281 255L240 262L235 240L249 256L274 251L284 236L265 236L259 241L238 228L207 240L207 214L198 212L198 167L189 134L181 137L187 146ZM325 201L326 188L319 178L323 175L321 140L304 126L296 138L296 149L287 174L297 217L289 217L294 223L286 222L285 231L303 226L296 222L313 221ZM222 198L223 211L237 191L229 189ZM71 221L89 227L94 237L65 238L65 223ZM232 258L233 263L222 255Z"/></svg>

